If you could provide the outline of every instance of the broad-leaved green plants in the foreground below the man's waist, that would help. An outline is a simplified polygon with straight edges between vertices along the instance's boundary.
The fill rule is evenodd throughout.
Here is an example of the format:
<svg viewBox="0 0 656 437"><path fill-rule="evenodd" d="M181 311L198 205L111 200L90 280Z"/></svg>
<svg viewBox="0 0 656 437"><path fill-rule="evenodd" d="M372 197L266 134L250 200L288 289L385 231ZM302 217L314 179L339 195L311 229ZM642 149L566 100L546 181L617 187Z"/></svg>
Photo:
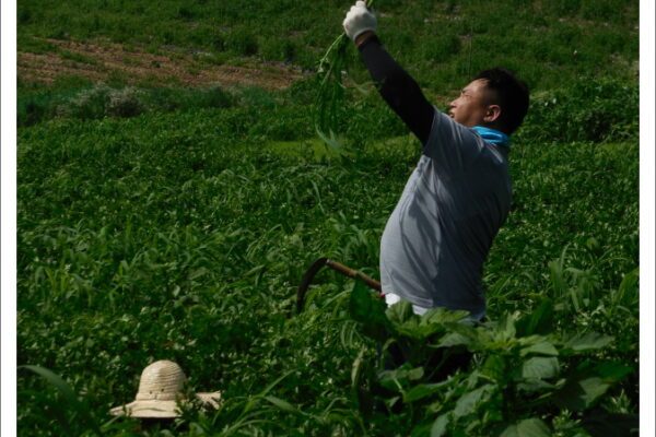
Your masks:
<svg viewBox="0 0 656 437"><path fill-rule="evenodd" d="M525 316L507 314L471 324L462 321L464 311L433 309L417 316L408 302L384 310L356 286L351 314L364 334L384 342L383 354L395 343L405 351L401 367L380 370L368 383L391 410L408 410L413 435L550 436L554 412L563 410L585 428L585 413L632 370L598 357L611 336L557 334L550 300ZM432 381L431 375L458 347L475 354L470 368ZM432 361L437 352L445 357Z"/></svg>

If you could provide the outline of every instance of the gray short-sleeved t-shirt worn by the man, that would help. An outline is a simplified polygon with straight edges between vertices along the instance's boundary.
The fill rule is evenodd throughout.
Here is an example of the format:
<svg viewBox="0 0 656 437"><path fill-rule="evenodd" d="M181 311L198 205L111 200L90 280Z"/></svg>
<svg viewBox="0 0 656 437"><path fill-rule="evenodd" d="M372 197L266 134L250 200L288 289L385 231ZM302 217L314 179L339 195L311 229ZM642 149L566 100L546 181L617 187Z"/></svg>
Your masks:
<svg viewBox="0 0 656 437"><path fill-rule="evenodd" d="M483 263L512 198L508 147L435 109L380 240L383 293L421 307L485 310Z"/></svg>

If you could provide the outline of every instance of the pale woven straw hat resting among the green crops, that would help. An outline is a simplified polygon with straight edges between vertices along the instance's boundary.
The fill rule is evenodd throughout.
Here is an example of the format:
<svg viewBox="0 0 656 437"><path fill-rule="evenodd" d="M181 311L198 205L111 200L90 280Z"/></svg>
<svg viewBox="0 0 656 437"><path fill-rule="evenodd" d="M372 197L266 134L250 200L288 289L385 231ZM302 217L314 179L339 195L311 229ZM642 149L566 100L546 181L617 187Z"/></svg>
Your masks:
<svg viewBox="0 0 656 437"><path fill-rule="evenodd" d="M176 402L188 402L184 398L183 388L187 377L174 362L166 359L155 362L143 369L139 380L139 392L133 402L115 406L113 415L127 414L132 417L179 417ZM196 393L204 403L218 409L221 392Z"/></svg>

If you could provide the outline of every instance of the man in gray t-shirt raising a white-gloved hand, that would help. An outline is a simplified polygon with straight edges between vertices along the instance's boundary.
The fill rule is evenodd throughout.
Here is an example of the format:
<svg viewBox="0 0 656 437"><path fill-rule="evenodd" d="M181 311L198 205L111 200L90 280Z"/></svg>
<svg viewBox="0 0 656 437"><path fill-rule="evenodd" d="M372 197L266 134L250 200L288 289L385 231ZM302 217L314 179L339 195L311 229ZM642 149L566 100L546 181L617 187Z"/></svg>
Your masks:
<svg viewBox="0 0 656 437"><path fill-rule="evenodd" d="M483 263L511 208L508 135L528 110L528 88L506 70L488 70L446 115L383 48L364 1L343 27L383 98L423 144L380 240L386 302L409 300L420 315L434 307L467 310L480 320Z"/></svg>

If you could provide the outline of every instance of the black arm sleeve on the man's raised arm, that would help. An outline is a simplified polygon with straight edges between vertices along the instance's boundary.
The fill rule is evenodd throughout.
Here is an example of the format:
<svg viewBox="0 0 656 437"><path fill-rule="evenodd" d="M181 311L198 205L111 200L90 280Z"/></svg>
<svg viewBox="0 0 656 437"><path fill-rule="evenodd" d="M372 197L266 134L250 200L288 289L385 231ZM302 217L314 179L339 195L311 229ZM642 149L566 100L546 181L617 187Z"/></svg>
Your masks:
<svg viewBox="0 0 656 437"><path fill-rule="evenodd" d="M435 109L426 101L419 84L383 48L377 36L370 37L359 49L385 102L421 143L425 144Z"/></svg>

